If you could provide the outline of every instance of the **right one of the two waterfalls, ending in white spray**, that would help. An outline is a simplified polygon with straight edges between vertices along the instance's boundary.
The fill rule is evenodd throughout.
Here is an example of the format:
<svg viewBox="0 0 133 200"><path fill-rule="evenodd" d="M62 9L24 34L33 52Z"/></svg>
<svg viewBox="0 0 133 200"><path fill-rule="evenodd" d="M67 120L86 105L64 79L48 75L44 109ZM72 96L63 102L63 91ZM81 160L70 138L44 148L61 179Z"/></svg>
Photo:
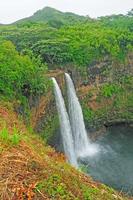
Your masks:
<svg viewBox="0 0 133 200"><path fill-rule="evenodd" d="M85 129L82 109L76 95L73 81L69 74L65 73L69 106L69 117L74 139L74 147L76 156L85 156L86 154L93 154L95 148L90 144L87 132Z"/></svg>

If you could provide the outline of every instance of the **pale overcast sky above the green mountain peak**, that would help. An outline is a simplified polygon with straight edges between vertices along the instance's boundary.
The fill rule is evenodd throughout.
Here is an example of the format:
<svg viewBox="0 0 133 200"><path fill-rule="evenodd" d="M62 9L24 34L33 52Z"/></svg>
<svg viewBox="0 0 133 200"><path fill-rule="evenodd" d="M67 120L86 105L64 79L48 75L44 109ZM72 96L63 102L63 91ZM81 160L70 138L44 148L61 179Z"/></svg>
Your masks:
<svg viewBox="0 0 133 200"><path fill-rule="evenodd" d="M90 17L127 13L133 0L0 0L0 23L11 23L50 6Z"/></svg>

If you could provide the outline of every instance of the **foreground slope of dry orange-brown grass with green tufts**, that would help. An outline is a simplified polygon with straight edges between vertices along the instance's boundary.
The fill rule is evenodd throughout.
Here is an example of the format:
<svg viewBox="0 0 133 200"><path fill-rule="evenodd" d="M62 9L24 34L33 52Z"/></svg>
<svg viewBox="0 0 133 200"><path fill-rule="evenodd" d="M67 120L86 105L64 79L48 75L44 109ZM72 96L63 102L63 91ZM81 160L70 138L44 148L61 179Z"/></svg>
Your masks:
<svg viewBox="0 0 133 200"><path fill-rule="evenodd" d="M0 103L0 198L126 200L65 163L27 130L10 103Z"/></svg>

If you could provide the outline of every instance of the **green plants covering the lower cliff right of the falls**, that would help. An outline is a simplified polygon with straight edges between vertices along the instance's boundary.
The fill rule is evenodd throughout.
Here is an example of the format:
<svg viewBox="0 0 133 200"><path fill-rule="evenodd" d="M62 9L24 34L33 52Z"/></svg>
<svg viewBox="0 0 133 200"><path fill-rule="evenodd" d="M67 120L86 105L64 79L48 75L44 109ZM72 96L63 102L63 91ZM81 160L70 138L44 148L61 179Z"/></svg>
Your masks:
<svg viewBox="0 0 133 200"><path fill-rule="evenodd" d="M95 88L95 100L92 101L93 96L88 98L88 95L82 100L87 124L99 126L108 121L126 120L128 122L133 120L133 78L123 75L117 81L110 84L104 83L98 89ZM91 106L93 103L95 103L95 109Z"/></svg>

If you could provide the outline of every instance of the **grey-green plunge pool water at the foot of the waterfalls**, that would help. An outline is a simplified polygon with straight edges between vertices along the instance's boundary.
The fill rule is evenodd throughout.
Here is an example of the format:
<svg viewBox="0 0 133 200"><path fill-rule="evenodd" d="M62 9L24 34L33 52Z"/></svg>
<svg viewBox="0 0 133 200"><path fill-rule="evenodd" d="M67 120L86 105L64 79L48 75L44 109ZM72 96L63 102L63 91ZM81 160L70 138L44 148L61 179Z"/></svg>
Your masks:
<svg viewBox="0 0 133 200"><path fill-rule="evenodd" d="M96 141L98 153L80 159L94 180L133 195L133 128L113 126Z"/></svg>

